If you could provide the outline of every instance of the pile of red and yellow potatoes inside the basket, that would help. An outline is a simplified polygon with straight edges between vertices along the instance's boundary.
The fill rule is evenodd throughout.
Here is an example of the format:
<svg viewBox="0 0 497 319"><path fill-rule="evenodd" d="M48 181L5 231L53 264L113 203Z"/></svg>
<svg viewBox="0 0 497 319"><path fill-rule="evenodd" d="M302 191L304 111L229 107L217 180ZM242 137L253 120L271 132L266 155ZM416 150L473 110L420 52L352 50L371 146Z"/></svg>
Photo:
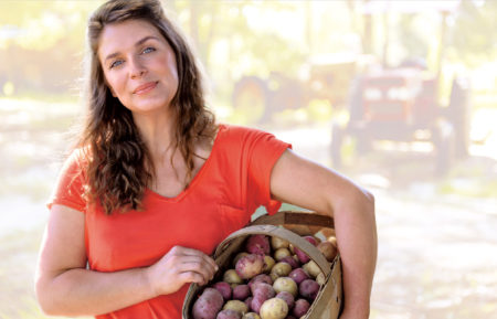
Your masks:
<svg viewBox="0 0 497 319"><path fill-rule="evenodd" d="M337 255L335 238L303 236L326 257ZM194 301L194 319L284 319L304 317L325 276L314 260L287 241L251 235L234 254L232 268L216 276Z"/></svg>

